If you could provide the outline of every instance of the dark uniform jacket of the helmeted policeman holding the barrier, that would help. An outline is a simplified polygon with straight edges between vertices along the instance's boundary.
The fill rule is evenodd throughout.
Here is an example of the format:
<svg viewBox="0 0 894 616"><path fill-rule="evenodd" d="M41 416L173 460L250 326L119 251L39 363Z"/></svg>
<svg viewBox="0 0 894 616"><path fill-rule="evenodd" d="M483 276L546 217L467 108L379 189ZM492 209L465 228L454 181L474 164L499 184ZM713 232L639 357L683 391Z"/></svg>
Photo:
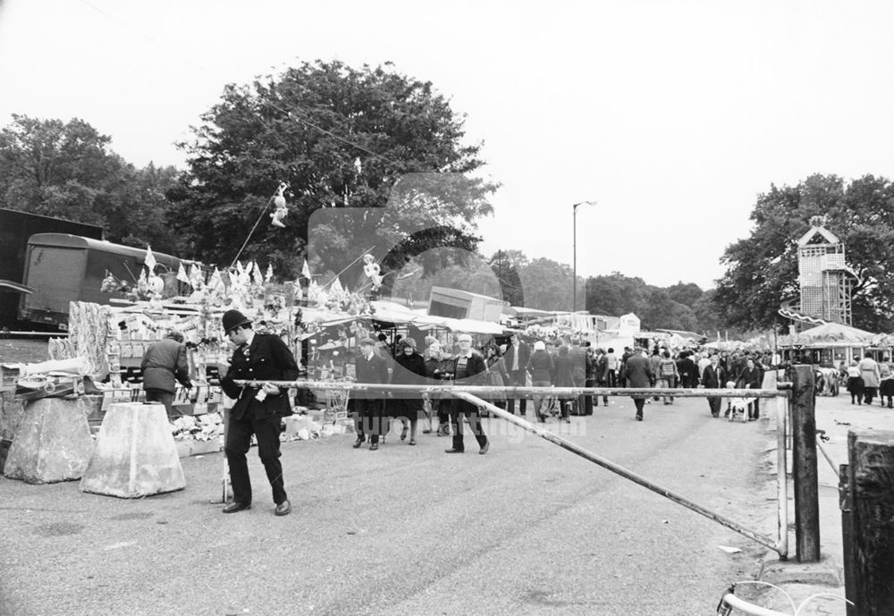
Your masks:
<svg viewBox="0 0 894 616"><path fill-rule="evenodd" d="M277 395L267 395L261 402L255 400L258 388L243 387L233 381L294 381L298 374L295 356L279 336L256 333L248 349L243 346L232 354L230 369L221 379L223 392L236 399L230 417L239 420L248 409L253 411L256 420L291 415L288 390L283 388Z"/></svg>

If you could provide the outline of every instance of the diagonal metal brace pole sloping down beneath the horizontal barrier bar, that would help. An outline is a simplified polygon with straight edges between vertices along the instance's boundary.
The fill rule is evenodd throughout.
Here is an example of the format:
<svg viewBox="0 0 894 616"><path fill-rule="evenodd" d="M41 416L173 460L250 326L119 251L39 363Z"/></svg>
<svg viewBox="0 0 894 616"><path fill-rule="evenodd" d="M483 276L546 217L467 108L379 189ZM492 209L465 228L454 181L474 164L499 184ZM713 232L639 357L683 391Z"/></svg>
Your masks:
<svg viewBox="0 0 894 616"><path fill-rule="evenodd" d="M607 459L603 458L602 456L599 456L599 455L593 453L592 451L587 451L583 447L580 447L579 445L577 445L575 443L571 443L570 441L562 438L561 436L555 435L552 432L544 430L543 428L541 428L539 426L530 424L527 421L525 421L524 419L518 418L515 415L512 415L510 412L503 410L497 406L494 406L490 402L483 401L480 398L477 398L470 393L451 392L451 395L453 395L456 398L460 398L460 400L468 401L472 404L475 404L476 406L481 407L483 409L487 409L493 415L495 415L499 418L505 419L506 421L509 421L511 424L514 424L516 426L519 426L519 427L527 430L527 432L531 432L535 435L538 435L541 438L544 438L545 440L549 441L550 443L557 444L562 449L566 449L568 451L571 451L572 453L576 453L578 456L580 456L581 458L584 458L585 460L589 460L595 464L598 464L599 466L601 466L603 468L611 470L612 473L620 475L621 477L624 477L625 479L629 479L630 481L634 482L635 484L642 485L646 489L652 490L656 494L661 494L664 498L667 498L673 502L676 502L679 505L683 505L687 509L695 511L696 513L703 515L707 519L711 519L714 522L717 522L718 524L721 524L725 527L730 528L731 530L736 531L739 535L746 536L749 539L751 539L752 541L755 541L758 544L764 545L766 547L769 547L771 550L778 552L778 544L776 541L774 541L772 539L772 537L764 536L759 533L755 533L755 531L753 531L749 528L743 527L742 525L738 524L738 522L735 522L729 518L726 518L725 516L722 516L720 513L706 509L706 508L702 507L701 505L697 504L696 502L692 502L692 501L688 500L684 496L680 496L679 494L671 492L671 490L668 490L667 488L664 488L661 485L654 484L653 482L649 481L645 477L642 477L641 475L637 475L637 473L634 473L632 470L628 470L628 468L624 468L618 464L615 464L611 460L607 460Z"/></svg>

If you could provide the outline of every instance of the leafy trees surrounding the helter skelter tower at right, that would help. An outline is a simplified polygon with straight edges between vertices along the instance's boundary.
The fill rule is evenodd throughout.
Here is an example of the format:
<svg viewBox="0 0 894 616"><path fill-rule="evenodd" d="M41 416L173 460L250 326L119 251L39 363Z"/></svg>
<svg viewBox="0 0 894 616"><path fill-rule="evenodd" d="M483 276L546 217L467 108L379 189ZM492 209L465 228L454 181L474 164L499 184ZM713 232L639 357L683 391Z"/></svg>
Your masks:
<svg viewBox="0 0 894 616"><path fill-rule="evenodd" d="M894 187L865 175L846 182L814 174L797 186L758 196L745 240L730 245L727 272L713 297L729 325L767 328L781 320L780 302L797 303L797 240L814 216L843 241L848 265L859 277L853 293L853 325L876 332L894 326Z"/></svg>

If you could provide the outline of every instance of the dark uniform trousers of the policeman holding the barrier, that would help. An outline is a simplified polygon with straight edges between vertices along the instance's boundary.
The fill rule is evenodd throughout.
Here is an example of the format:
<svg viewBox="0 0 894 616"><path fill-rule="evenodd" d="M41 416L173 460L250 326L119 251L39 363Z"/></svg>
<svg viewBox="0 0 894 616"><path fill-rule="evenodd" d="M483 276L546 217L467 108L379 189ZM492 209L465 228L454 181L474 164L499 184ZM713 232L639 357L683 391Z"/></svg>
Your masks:
<svg viewBox="0 0 894 616"><path fill-rule="evenodd" d="M257 438L257 455L264 464L270 486L273 488L274 502L278 505L287 500L283 482L283 464L280 462L280 426L282 418L275 415L266 419L255 419L253 409L246 409L241 419L230 418L227 426L226 444L223 451L230 465L232 496L235 502L251 502L251 479L249 463L245 454L249 452L251 435Z"/></svg>

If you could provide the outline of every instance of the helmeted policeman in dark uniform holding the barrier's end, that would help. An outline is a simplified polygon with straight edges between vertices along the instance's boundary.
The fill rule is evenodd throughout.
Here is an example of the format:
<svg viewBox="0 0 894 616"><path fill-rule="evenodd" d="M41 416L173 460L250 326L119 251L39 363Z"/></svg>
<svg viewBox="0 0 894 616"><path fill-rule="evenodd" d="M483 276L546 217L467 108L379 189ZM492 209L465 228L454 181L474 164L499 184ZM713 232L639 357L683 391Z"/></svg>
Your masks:
<svg viewBox="0 0 894 616"><path fill-rule="evenodd" d="M251 435L257 438L257 455L264 464L267 479L273 488L275 513L284 516L291 511L285 494L283 465L280 458L280 428L282 418L291 415L291 404L279 387L270 381L294 381L298 378L298 363L289 347L279 336L254 333L251 321L239 310L223 313L223 331L236 345L230 369L221 379L221 386L236 403L230 410L227 425L226 453L230 465L233 502L223 508L234 513L251 507L251 480L245 454L249 452ZM260 388L240 386L233 381L266 381Z"/></svg>

